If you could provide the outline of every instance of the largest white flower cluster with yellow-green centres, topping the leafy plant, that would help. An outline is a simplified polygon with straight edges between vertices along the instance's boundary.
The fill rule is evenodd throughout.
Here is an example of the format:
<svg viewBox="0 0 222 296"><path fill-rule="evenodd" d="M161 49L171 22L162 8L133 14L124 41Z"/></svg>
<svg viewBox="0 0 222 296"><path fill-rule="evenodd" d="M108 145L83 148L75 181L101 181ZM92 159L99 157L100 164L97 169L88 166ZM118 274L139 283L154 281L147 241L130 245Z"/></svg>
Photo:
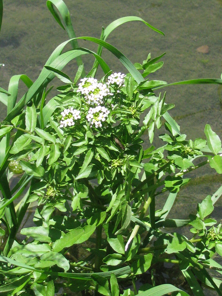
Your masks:
<svg viewBox="0 0 222 296"><path fill-rule="evenodd" d="M84 98L90 105L97 105L103 103L103 98L112 95L106 84L98 83L97 79L94 78L83 78L79 83L77 92L85 95Z"/></svg>

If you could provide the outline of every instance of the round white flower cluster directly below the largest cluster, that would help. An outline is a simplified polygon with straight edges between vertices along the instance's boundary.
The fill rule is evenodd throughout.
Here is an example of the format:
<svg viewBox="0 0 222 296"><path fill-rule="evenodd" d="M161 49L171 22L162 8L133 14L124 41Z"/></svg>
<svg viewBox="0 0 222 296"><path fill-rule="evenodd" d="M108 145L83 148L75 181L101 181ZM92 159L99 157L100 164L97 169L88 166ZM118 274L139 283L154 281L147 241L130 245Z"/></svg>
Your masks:
<svg viewBox="0 0 222 296"><path fill-rule="evenodd" d="M90 127L92 127L93 124L96 128L101 127L101 121L105 121L109 113L110 111L105 107L96 106L95 108L89 108L86 118L90 123Z"/></svg>

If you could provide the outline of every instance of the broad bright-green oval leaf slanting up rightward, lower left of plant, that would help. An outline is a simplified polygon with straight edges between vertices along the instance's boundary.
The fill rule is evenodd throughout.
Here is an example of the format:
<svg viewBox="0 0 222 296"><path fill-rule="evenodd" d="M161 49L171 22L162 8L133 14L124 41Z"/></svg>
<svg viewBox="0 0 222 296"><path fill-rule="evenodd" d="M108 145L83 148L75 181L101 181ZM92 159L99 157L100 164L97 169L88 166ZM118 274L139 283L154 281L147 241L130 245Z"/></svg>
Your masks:
<svg viewBox="0 0 222 296"><path fill-rule="evenodd" d="M83 228L72 229L67 232L64 237L57 239L52 244L52 250L54 252L60 252L64 248L71 247L75 242L83 235Z"/></svg>

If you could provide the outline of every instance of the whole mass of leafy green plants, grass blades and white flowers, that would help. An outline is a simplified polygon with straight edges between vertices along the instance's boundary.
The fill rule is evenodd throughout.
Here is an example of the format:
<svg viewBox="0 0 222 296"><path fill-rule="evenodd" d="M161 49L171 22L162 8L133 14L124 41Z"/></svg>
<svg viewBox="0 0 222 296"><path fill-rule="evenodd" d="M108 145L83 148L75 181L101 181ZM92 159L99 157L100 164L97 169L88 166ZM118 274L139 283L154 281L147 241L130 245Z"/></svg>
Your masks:
<svg viewBox="0 0 222 296"><path fill-rule="evenodd" d="M106 39L130 21L163 32L131 16L103 28L100 39L76 37L65 3L46 4L70 39L57 46L35 82L15 75L8 90L0 88L0 101L7 106L0 126L1 295L201 296L202 285L222 295L222 266L215 260L216 253L222 256L222 229L210 216L222 186L187 219L168 218L178 192L190 181L187 174L205 165L222 173L221 140L209 124L205 139L186 139L168 113L174 104L158 91L222 80L150 80L149 74L163 66L164 54L148 54L133 65ZM2 0L0 5L2 12ZM79 39L97 44L97 52L79 47ZM72 49L66 51L69 44ZM110 69L101 57L103 48L120 60L125 73ZM95 58L88 73L81 59L86 54ZM78 70L70 77L62 69L73 59ZM99 66L103 77L97 77ZM61 85L52 97L49 83L55 77ZM20 80L28 91L17 101ZM154 147L162 121L162 145ZM18 182L9 186L15 173L20 173ZM165 201L157 210L160 196ZM33 203L35 226L20 229ZM179 266L190 292L157 283L155 266L163 262ZM138 290L136 282L144 274Z"/></svg>

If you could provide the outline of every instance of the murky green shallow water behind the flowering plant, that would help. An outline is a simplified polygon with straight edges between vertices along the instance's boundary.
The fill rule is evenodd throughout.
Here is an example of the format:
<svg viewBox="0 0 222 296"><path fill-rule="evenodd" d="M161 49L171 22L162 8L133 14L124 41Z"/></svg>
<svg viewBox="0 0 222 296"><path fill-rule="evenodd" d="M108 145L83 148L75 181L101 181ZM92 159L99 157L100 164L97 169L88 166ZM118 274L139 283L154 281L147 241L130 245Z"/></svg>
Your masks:
<svg viewBox="0 0 222 296"><path fill-rule="evenodd" d="M163 52L165 65L150 75L150 79L168 83L194 78L220 78L222 72L222 1L221 0L66 0L77 36L99 38L101 28L113 20L136 15L165 33L153 32L140 22L126 23L113 31L107 42L116 46L132 62L142 62L151 52L152 57ZM46 7L45 0L8 0L4 3L4 16L0 33L0 86L7 89L12 75L26 74L35 80L52 51L67 40L66 32L59 27ZM92 43L81 41L80 46L96 50ZM209 47L203 54L197 51L202 45ZM104 50L103 58L115 71L125 72L118 59ZM85 63L93 63L89 56ZM74 77L76 63L64 70ZM90 66L86 66L90 70ZM102 71L98 75L102 75ZM53 81L59 85L58 81ZM25 91L21 83L20 97ZM168 103L176 107L170 114L189 138L205 137L204 126L210 124L222 138L222 86L193 85L170 86ZM19 97L19 98L20 98ZM2 108L2 107L1 107ZM1 109L0 120L6 109ZM156 141L158 144L158 141ZM197 202L213 194L221 185L222 177L211 169L194 172L200 176L184 188L173 210L173 216L195 211ZM181 209L183 209L181 211ZM217 203L216 217L221 218L222 202Z"/></svg>

